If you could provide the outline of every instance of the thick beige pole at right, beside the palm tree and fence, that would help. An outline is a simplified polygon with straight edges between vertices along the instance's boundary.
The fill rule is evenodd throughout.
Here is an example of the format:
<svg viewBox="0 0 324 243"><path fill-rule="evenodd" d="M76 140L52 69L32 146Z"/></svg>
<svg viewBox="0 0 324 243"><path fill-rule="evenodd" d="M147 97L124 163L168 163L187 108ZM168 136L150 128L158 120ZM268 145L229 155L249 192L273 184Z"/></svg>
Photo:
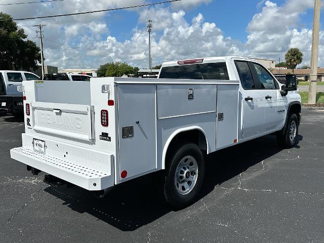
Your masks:
<svg viewBox="0 0 324 243"><path fill-rule="evenodd" d="M308 89L308 104L312 104L312 105L316 103L319 15L320 15L320 0L315 0L314 17L313 17L312 51L311 51L311 58L310 58L310 78L309 78L309 89Z"/></svg>

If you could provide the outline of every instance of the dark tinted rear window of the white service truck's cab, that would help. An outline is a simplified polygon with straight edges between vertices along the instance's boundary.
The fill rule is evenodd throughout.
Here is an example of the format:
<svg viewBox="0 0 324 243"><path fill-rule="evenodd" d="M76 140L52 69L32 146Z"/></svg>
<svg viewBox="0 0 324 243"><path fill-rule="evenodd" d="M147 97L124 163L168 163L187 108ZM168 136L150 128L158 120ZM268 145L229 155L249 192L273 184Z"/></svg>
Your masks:
<svg viewBox="0 0 324 243"><path fill-rule="evenodd" d="M229 80L225 62L163 67L159 78Z"/></svg>

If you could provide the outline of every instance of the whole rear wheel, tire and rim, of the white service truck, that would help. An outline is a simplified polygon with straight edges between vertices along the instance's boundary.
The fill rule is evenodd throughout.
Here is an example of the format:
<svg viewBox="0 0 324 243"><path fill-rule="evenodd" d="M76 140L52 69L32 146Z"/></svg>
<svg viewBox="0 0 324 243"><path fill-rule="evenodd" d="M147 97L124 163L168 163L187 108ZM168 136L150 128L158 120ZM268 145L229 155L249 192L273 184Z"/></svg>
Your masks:
<svg viewBox="0 0 324 243"><path fill-rule="evenodd" d="M203 185L204 155L196 144L187 143L169 158L161 180L164 198L172 207L184 208L193 203Z"/></svg>

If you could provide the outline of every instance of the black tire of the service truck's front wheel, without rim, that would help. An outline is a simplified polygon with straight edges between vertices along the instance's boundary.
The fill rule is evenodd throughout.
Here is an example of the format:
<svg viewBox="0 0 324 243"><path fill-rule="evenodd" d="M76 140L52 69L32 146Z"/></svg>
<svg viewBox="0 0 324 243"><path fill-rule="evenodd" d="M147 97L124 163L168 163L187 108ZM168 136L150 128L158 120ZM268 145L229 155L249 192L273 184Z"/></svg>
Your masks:
<svg viewBox="0 0 324 243"><path fill-rule="evenodd" d="M296 126L296 134L294 136L294 139L291 139L290 137L290 131L292 126ZM292 148L295 146L297 142L297 136L298 136L298 118L297 115L294 113L289 114L287 124L284 127L283 130L277 133L277 141L279 146L284 148Z"/></svg>

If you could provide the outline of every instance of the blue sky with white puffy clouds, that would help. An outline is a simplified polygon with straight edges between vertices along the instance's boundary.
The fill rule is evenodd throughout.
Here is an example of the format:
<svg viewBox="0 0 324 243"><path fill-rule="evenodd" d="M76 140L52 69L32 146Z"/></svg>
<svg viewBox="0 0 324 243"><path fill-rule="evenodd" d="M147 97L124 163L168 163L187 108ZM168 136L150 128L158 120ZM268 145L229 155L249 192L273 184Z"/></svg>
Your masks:
<svg viewBox="0 0 324 243"><path fill-rule="evenodd" d="M35 0L34 0L35 1ZM38 1L38 0L37 0ZM39 0L40 1L40 0ZM43 0L44 1L44 0ZM64 0L1 6L30 0L0 0L0 12L14 19L136 6L160 0ZM153 21L152 65L212 56L284 61L299 48L310 64L314 0L182 0L152 7L17 21L39 45L34 24L45 24L45 65L98 68L122 61L148 67L148 33ZM323 16L324 4L321 4ZM324 66L324 17L320 20L318 65Z"/></svg>

